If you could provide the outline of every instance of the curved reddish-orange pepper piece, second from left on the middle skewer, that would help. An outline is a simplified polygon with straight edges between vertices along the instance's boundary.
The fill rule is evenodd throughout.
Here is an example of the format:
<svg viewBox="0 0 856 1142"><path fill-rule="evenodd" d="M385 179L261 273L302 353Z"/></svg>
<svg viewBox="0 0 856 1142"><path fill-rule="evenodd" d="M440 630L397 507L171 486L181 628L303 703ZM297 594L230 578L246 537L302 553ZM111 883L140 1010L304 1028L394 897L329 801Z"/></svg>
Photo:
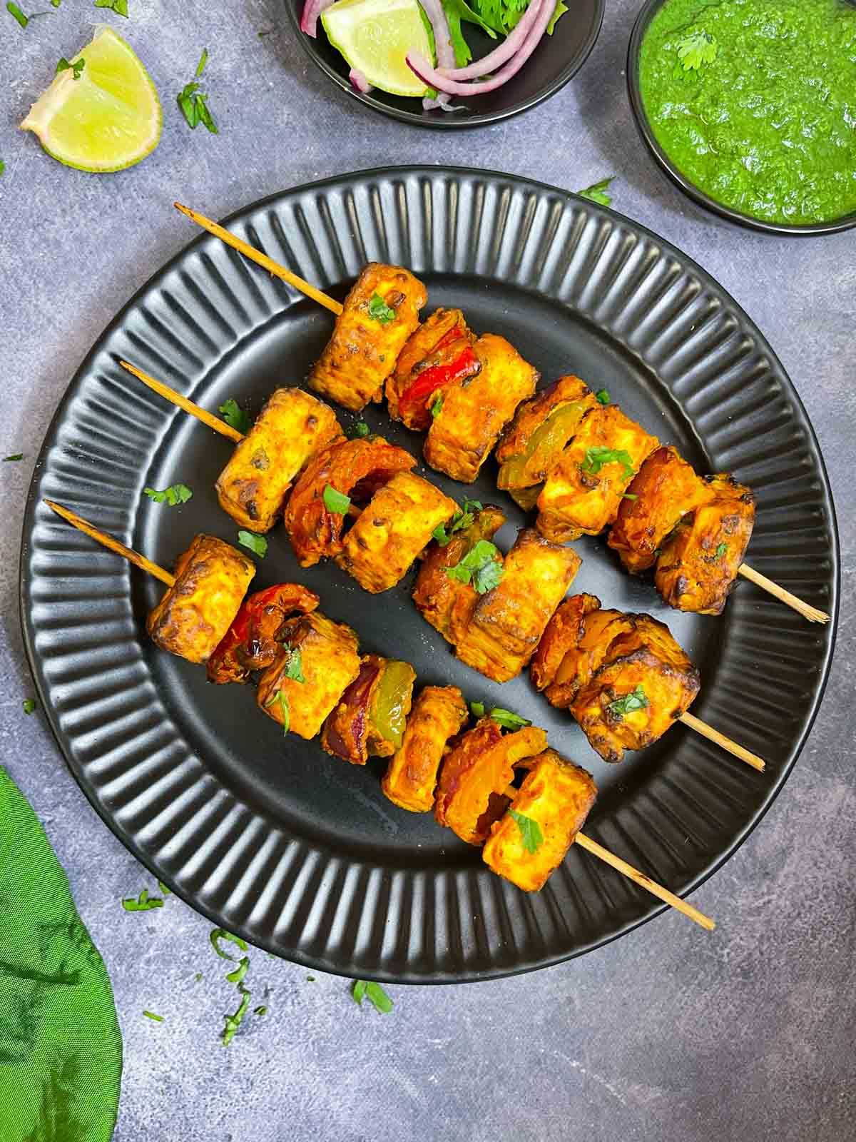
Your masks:
<svg viewBox="0 0 856 1142"><path fill-rule="evenodd" d="M285 530L301 566L342 549L347 516L326 505L328 488L365 502L389 483L397 472L407 472L415 458L381 436L346 440L318 452L306 466L285 505Z"/></svg>

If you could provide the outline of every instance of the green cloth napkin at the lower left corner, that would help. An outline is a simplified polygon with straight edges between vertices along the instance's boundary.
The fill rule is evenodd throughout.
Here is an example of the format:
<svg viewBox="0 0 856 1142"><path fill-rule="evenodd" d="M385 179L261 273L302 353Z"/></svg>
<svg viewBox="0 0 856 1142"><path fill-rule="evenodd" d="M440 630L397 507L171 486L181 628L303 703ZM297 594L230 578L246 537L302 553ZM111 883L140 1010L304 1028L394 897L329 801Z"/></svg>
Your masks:
<svg viewBox="0 0 856 1142"><path fill-rule="evenodd" d="M110 1142L122 1036L68 880L0 766L0 1139Z"/></svg>

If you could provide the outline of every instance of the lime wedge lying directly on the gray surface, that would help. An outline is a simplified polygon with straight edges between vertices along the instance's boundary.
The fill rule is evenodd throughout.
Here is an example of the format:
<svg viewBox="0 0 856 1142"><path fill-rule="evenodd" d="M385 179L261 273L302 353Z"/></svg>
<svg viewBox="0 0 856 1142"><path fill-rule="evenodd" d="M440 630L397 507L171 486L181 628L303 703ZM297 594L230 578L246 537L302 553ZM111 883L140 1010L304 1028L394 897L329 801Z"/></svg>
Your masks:
<svg viewBox="0 0 856 1142"><path fill-rule="evenodd" d="M71 61L80 79L59 72L21 124L54 159L79 170L123 170L158 146L163 116L158 91L124 40L111 27Z"/></svg>

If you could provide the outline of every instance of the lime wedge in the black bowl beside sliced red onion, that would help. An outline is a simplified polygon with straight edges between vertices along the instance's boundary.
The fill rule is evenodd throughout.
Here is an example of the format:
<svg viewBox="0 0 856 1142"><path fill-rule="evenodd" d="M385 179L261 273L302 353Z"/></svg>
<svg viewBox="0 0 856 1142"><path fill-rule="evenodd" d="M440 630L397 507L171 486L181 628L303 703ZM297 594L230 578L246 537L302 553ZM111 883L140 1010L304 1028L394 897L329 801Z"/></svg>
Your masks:
<svg viewBox="0 0 856 1142"><path fill-rule="evenodd" d="M426 86L407 67L413 49L433 58L417 0L337 0L321 14L328 39L372 87L390 95L422 96Z"/></svg>

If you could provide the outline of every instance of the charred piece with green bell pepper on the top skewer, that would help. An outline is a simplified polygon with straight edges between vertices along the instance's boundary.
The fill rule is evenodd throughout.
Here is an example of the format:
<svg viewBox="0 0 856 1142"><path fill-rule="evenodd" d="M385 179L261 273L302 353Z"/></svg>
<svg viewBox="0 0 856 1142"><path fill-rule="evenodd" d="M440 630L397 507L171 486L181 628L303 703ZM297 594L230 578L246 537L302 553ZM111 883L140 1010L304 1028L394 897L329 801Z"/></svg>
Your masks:
<svg viewBox="0 0 856 1142"><path fill-rule="evenodd" d="M573 439L589 409L596 408L595 394L573 376L559 377L531 401L525 401L496 449L500 465L496 486L518 493L524 500L522 507L533 507L540 485L562 450ZM527 491L528 496L523 494Z"/></svg>

